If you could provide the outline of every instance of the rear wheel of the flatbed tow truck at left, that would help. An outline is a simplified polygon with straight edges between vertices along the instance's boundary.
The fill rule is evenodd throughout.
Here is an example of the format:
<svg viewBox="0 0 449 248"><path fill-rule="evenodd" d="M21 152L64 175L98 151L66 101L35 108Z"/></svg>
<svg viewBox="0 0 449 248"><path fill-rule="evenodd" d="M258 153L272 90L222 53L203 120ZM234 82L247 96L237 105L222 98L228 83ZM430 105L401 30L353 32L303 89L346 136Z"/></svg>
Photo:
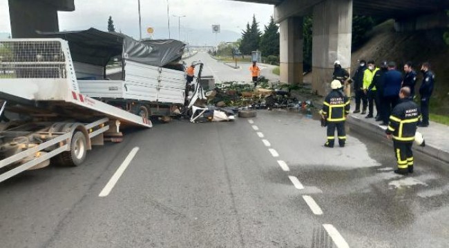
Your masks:
<svg viewBox="0 0 449 248"><path fill-rule="evenodd" d="M70 142L70 151L63 152L60 156L62 165L75 167L81 165L86 159L87 142L86 136L80 131L76 131Z"/></svg>

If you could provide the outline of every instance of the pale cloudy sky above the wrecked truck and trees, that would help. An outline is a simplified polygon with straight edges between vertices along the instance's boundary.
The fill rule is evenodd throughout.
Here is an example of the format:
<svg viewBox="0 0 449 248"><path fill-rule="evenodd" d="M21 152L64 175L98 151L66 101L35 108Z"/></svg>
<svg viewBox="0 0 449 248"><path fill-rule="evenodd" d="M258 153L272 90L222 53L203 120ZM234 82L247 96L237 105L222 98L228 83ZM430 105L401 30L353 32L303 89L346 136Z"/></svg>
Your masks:
<svg viewBox="0 0 449 248"><path fill-rule="evenodd" d="M167 0L140 0L142 37L146 28L153 27L153 38L168 38ZM269 22L273 6L229 0L168 0L171 38L178 39L178 17L181 18L180 39L190 43L235 41L253 14L263 25ZM75 12L59 12L60 30L84 30L90 27L107 30L111 15L115 29L139 37L137 0L75 0ZM0 0L0 33L10 32L8 0ZM220 24L222 32L215 37L212 24Z"/></svg>

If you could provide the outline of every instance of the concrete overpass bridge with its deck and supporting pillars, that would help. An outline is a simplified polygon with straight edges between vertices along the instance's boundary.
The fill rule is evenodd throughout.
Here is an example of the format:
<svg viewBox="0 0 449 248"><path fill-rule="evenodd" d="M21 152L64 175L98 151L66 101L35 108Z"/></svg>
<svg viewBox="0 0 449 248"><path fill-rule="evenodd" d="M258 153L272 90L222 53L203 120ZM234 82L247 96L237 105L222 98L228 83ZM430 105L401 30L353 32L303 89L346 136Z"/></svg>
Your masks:
<svg viewBox="0 0 449 248"><path fill-rule="evenodd" d="M58 31L57 11L75 10L74 0L8 0L12 37L36 37L35 30ZM333 62L350 68L352 14L396 19L399 31L448 24L449 0L230 0L274 6L280 24L280 79L303 82L303 17L312 14L312 88L328 90Z"/></svg>

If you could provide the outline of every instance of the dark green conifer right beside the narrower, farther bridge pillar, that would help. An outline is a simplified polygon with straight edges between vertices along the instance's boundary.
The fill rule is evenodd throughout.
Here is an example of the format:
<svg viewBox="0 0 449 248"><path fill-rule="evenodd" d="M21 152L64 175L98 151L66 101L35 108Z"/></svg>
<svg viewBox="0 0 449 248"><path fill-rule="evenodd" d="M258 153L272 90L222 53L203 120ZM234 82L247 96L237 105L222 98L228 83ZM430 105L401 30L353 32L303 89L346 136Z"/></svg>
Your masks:
<svg viewBox="0 0 449 248"><path fill-rule="evenodd" d="M279 55L279 27L271 16L268 25L265 25L264 33L260 37L260 52L263 56Z"/></svg>

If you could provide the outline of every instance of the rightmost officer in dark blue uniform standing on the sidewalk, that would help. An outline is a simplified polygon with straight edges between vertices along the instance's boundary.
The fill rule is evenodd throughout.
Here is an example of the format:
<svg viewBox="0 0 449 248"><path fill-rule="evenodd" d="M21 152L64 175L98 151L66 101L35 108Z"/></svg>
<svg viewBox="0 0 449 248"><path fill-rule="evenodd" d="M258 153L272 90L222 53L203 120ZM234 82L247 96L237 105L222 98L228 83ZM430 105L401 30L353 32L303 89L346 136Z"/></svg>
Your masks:
<svg viewBox="0 0 449 248"><path fill-rule="evenodd" d="M419 127L429 126L429 101L432 96L435 75L430 71L430 63L423 63L421 66L423 73L423 83L419 87L419 94L421 95L421 111L423 112L423 121L419 123Z"/></svg>

